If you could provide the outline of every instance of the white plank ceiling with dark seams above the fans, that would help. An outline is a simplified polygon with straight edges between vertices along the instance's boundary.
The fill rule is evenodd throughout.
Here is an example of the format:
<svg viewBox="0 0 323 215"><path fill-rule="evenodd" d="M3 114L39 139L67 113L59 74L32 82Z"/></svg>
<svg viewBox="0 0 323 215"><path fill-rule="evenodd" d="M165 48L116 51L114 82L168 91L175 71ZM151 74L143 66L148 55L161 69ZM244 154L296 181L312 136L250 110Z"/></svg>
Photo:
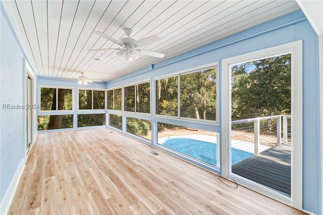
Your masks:
<svg viewBox="0 0 323 215"><path fill-rule="evenodd" d="M109 81L260 23L299 10L296 1L3 1L12 25L37 76ZM145 49L163 59L141 55L120 59L118 48L93 30L119 40L157 35ZM100 60L94 60L99 58Z"/></svg>

